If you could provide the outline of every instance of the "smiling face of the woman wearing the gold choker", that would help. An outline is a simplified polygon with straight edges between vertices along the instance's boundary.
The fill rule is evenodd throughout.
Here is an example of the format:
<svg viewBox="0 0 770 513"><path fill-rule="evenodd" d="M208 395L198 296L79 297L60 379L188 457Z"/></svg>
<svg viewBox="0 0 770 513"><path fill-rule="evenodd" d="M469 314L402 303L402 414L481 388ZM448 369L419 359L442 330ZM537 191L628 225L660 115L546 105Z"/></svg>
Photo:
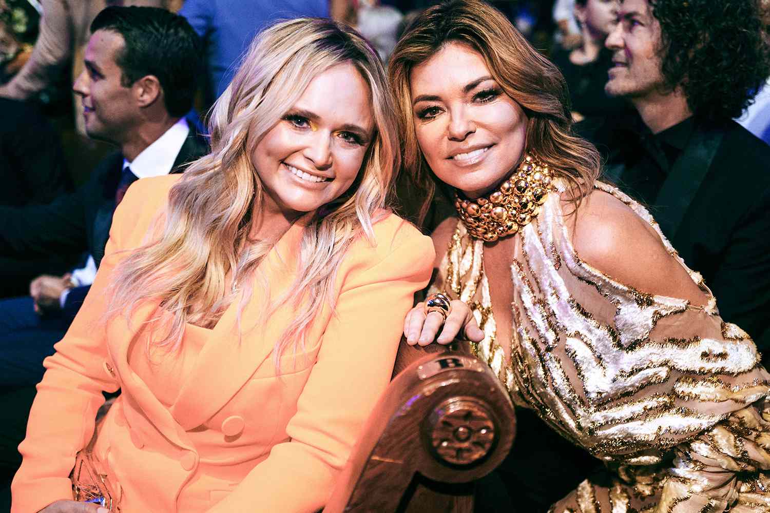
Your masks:
<svg viewBox="0 0 770 513"><path fill-rule="evenodd" d="M442 182L477 198L521 162L527 115L470 46L450 42L410 75L417 142Z"/></svg>

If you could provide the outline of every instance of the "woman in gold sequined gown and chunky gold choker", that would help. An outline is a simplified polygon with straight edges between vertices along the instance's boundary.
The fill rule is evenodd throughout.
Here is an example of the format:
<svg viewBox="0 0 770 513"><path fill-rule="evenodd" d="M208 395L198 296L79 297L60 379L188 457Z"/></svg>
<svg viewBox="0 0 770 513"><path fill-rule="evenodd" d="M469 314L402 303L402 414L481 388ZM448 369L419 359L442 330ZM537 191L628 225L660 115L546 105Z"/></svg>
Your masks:
<svg viewBox="0 0 770 513"><path fill-rule="evenodd" d="M514 402L608 470L552 511L768 511L770 375L648 212L596 181L561 74L479 0L411 26L388 68L406 167L457 208L432 235L440 341L467 325ZM446 302L410 312L412 343Z"/></svg>

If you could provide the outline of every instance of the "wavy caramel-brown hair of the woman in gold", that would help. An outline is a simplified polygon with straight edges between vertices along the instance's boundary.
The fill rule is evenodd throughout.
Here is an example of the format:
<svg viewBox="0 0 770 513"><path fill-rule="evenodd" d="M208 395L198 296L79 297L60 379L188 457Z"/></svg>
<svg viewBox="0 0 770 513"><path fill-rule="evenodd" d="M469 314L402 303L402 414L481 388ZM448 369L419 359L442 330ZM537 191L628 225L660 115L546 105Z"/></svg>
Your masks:
<svg viewBox="0 0 770 513"><path fill-rule="evenodd" d="M419 222L434 198L437 180L417 143L410 74L450 42L469 45L484 58L492 78L529 118L526 151L539 155L571 183L572 198L580 202L598 177L600 157L591 143L572 132L567 84L561 72L496 8L481 0L451 0L427 8L410 23L388 64L390 86L397 98L403 166L424 195Z"/></svg>

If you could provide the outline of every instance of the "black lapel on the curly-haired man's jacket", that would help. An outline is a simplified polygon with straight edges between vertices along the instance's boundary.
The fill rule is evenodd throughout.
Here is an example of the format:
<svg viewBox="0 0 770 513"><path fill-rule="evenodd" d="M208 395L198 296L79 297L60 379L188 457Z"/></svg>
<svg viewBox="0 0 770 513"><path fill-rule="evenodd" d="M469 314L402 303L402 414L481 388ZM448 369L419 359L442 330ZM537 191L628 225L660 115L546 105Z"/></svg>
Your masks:
<svg viewBox="0 0 770 513"><path fill-rule="evenodd" d="M676 160L668 178L663 182L654 202L654 205L661 207L655 220L668 239L675 237L682 219L685 218L698 188L711 168L722 136L721 130L696 128L685 151Z"/></svg>

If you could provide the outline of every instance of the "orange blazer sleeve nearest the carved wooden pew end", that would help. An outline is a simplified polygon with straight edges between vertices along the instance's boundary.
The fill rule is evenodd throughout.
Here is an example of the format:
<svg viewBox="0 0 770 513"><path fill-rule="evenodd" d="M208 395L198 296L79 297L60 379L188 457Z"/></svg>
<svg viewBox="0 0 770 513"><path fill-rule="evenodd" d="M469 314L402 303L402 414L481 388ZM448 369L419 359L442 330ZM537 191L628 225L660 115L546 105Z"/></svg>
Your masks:
<svg viewBox="0 0 770 513"><path fill-rule="evenodd" d="M433 267L430 238L406 222L390 250L379 254L376 261L360 262L343 281L335 315L286 428L290 441L273 446L212 513L323 508L390 381L403 318Z"/></svg>

